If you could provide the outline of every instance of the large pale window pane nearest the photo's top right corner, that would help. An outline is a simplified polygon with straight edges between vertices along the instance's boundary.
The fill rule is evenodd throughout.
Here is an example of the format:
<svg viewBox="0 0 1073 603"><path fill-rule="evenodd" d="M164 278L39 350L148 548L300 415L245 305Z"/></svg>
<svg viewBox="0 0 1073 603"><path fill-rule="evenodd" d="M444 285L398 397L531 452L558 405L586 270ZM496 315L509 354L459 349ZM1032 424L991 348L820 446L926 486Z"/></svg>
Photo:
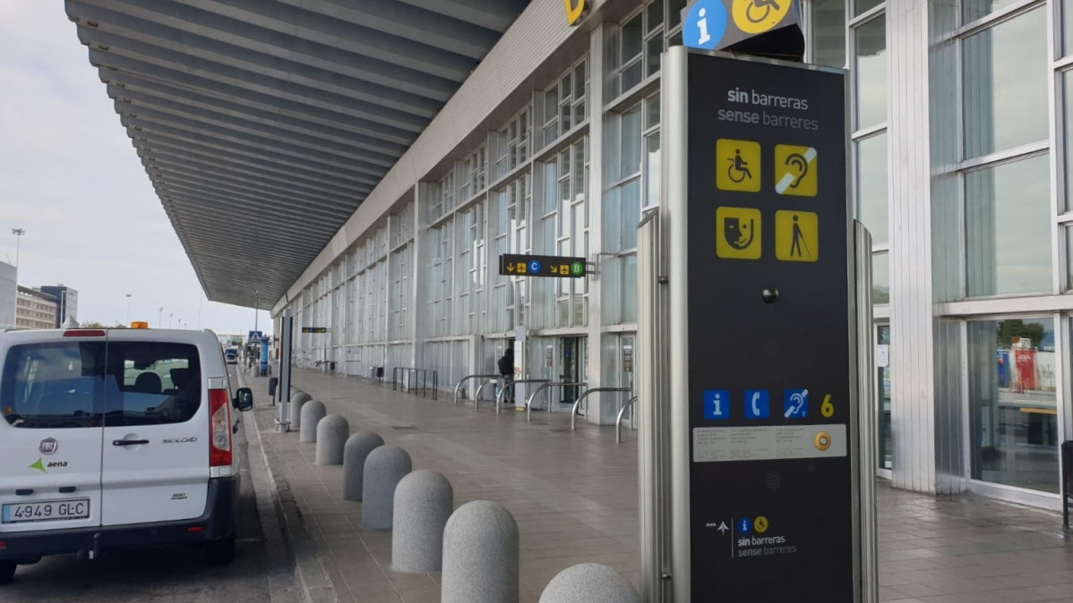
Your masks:
<svg viewBox="0 0 1073 603"><path fill-rule="evenodd" d="M965 39L966 159L1047 138L1046 26L1037 9Z"/></svg>

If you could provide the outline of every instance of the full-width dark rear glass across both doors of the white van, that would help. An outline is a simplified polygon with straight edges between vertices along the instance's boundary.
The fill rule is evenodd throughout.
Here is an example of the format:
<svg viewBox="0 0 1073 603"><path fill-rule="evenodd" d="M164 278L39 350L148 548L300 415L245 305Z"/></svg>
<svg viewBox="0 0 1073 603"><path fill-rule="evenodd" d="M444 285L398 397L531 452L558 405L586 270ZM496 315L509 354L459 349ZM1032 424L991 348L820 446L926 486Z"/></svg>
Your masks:
<svg viewBox="0 0 1073 603"><path fill-rule="evenodd" d="M0 379L0 414L23 428L181 423L201 408L200 366L189 344L14 346Z"/></svg>

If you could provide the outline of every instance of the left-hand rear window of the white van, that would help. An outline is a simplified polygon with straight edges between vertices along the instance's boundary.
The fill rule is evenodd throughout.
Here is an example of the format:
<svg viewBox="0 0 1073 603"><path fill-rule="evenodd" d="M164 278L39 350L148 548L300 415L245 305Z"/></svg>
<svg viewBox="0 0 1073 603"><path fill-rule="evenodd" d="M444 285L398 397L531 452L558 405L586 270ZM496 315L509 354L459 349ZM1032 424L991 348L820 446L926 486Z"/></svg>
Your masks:
<svg viewBox="0 0 1073 603"><path fill-rule="evenodd" d="M104 343L13 346L0 378L0 416L15 427L99 427Z"/></svg>

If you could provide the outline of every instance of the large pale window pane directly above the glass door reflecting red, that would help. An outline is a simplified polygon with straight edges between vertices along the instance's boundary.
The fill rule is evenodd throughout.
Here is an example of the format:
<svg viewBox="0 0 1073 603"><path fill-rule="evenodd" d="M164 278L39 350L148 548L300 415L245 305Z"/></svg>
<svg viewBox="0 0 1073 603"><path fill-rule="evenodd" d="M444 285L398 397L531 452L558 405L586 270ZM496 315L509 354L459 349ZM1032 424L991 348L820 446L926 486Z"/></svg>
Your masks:
<svg viewBox="0 0 1073 603"><path fill-rule="evenodd" d="M1049 291L1047 155L966 175L965 205L968 295Z"/></svg>

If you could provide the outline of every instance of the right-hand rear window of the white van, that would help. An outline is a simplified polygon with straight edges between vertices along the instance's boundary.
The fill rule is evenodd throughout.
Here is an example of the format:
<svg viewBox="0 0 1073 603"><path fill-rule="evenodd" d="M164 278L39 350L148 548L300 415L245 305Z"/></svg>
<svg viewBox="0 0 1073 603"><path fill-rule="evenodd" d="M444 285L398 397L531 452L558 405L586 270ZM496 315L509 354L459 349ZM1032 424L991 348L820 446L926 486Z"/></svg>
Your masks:
<svg viewBox="0 0 1073 603"><path fill-rule="evenodd" d="M189 421L201 408L200 367L196 346L109 342L105 426Z"/></svg>

